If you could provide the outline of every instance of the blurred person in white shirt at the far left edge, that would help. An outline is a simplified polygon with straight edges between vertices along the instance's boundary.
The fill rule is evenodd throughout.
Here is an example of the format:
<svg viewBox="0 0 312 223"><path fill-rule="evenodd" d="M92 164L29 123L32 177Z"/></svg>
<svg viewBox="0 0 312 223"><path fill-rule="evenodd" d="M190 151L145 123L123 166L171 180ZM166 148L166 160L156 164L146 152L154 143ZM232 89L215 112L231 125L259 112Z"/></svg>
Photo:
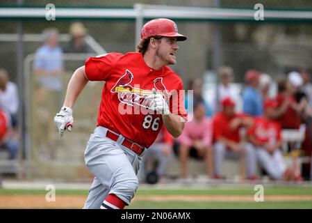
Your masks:
<svg viewBox="0 0 312 223"><path fill-rule="evenodd" d="M0 69L0 104L10 113L10 125L17 133L19 95L16 84L9 81L8 72L4 69Z"/></svg>

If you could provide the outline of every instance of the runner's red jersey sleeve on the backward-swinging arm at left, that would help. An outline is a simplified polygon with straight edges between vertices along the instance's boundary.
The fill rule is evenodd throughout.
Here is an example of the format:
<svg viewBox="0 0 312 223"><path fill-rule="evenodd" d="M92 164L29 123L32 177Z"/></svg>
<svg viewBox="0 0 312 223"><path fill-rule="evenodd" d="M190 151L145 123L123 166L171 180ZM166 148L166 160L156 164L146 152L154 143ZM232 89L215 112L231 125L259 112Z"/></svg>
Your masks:
<svg viewBox="0 0 312 223"><path fill-rule="evenodd" d="M109 53L100 56L91 56L85 61L85 75L90 81L106 81L110 72L115 68L115 63L120 57L120 53Z"/></svg>

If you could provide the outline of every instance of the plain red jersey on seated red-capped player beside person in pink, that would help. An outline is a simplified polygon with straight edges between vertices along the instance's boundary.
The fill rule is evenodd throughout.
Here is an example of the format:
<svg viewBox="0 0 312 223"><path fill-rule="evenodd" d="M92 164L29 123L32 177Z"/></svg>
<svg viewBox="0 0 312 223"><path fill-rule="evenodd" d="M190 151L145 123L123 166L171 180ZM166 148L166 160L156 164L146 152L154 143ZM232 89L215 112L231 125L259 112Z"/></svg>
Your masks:
<svg viewBox="0 0 312 223"><path fill-rule="evenodd" d="M231 130L229 124L234 118L246 117L245 114L233 114L230 118L224 115L223 112L218 112L213 117L213 141L217 141L219 137L231 139L240 142L240 128Z"/></svg>

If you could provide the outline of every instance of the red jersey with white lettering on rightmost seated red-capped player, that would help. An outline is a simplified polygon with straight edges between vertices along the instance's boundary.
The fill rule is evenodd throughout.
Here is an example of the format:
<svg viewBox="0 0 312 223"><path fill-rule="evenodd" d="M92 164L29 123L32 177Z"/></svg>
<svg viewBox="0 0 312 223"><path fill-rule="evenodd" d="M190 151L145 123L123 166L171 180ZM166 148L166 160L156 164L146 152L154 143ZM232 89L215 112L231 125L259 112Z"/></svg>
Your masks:
<svg viewBox="0 0 312 223"><path fill-rule="evenodd" d="M281 141L281 125L277 121L260 116L254 118L254 126L247 130L261 144Z"/></svg>

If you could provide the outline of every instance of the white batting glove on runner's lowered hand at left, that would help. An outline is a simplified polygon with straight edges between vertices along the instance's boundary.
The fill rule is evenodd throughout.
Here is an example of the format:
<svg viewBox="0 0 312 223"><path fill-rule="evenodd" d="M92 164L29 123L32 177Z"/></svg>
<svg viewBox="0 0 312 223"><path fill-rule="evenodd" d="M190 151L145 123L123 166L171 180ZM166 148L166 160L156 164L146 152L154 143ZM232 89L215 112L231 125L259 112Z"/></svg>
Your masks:
<svg viewBox="0 0 312 223"><path fill-rule="evenodd" d="M69 132L72 130L72 123L74 123L74 118L72 117L72 109L63 106L60 112L54 117L54 123L58 127L58 133L60 137L63 137L65 130Z"/></svg>

